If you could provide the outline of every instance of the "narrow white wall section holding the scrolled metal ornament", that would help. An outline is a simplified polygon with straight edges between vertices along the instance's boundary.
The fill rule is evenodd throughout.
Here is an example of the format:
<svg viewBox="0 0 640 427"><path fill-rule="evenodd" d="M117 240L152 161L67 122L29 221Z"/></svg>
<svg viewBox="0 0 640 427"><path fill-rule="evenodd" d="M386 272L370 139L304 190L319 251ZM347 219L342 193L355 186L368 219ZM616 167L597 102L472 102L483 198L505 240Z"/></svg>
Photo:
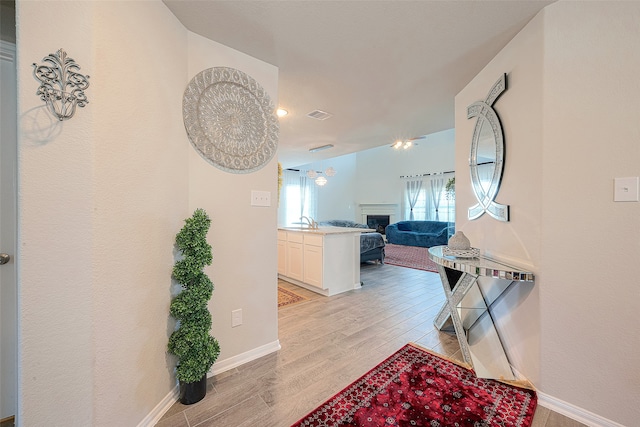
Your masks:
<svg viewBox="0 0 640 427"><path fill-rule="evenodd" d="M93 161L89 107L65 123L35 96L34 62L61 47L92 73L94 5L18 2L19 425L91 425L93 376ZM74 26L60 26L66 17ZM56 37L51 37L55 34ZM77 37L77 35L83 37ZM94 84L95 86L95 84ZM88 92L89 101L99 92ZM114 258L116 254L113 254ZM117 258L116 258L117 259ZM118 280L117 276L114 277ZM98 319L107 321L107 319ZM116 346L118 347L118 346ZM126 353L126 348L122 348ZM61 392L60 390L64 390Z"/></svg>

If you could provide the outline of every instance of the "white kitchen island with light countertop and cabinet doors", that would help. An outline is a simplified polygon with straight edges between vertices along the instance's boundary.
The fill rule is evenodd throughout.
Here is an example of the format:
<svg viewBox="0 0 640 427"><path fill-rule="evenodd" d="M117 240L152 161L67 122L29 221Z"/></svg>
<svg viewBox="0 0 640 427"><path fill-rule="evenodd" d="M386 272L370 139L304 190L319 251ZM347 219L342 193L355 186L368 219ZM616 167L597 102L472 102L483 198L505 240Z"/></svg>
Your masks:
<svg viewBox="0 0 640 427"><path fill-rule="evenodd" d="M278 277L325 296L359 289L360 234L372 231L278 228Z"/></svg>

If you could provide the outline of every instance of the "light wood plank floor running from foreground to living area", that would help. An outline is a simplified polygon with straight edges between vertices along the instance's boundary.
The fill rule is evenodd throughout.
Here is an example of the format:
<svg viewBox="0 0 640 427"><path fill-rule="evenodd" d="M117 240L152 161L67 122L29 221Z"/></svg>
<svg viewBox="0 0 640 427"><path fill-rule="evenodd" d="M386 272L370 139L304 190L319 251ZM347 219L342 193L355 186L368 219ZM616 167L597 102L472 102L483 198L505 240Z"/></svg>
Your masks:
<svg viewBox="0 0 640 427"><path fill-rule="evenodd" d="M286 427L408 342L461 359L455 336L433 318L444 303L436 273L364 264L362 289L309 297L278 312L282 349L208 380L207 396L176 403L158 427ZM532 427L583 424L538 406Z"/></svg>

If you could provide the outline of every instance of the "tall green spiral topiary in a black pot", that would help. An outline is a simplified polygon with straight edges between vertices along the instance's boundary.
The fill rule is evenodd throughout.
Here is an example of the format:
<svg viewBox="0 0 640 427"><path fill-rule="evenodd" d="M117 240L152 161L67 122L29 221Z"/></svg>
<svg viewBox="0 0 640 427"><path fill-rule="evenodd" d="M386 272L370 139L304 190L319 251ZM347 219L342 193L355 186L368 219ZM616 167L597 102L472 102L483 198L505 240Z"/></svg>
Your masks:
<svg viewBox="0 0 640 427"><path fill-rule="evenodd" d="M213 293L213 283L204 267L213 259L207 243L211 219L202 209L196 209L176 235L176 246L183 255L173 266L173 278L182 291L171 301L169 311L178 320L178 328L169 338L169 353L178 357L176 378L180 381L180 402L196 403L207 392L207 372L220 354L218 341L209 335L211 313L207 304Z"/></svg>

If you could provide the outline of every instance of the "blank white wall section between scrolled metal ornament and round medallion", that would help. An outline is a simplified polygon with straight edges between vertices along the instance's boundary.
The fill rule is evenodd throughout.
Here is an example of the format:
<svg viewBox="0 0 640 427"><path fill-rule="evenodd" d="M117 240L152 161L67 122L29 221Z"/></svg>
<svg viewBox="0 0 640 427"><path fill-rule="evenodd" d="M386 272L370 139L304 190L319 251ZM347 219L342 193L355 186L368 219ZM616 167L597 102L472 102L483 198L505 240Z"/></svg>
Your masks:
<svg viewBox="0 0 640 427"><path fill-rule="evenodd" d="M78 112L92 111L94 134L92 425L115 413L133 425L175 381L167 313L175 234L191 215L187 32L159 2L97 2L94 13L91 103Z"/></svg>

